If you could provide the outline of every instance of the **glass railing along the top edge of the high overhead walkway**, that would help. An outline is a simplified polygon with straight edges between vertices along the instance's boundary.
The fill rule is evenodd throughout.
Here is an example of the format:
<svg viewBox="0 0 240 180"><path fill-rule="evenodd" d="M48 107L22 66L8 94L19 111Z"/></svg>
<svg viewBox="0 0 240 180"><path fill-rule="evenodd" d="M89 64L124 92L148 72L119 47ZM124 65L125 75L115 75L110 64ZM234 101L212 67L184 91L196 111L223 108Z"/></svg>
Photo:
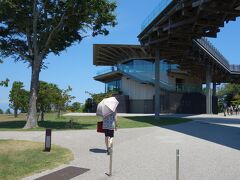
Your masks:
<svg viewBox="0 0 240 180"><path fill-rule="evenodd" d="M157 7L147 16L141 25L143 31L170 3L172 0L161 0Z"/></svg>

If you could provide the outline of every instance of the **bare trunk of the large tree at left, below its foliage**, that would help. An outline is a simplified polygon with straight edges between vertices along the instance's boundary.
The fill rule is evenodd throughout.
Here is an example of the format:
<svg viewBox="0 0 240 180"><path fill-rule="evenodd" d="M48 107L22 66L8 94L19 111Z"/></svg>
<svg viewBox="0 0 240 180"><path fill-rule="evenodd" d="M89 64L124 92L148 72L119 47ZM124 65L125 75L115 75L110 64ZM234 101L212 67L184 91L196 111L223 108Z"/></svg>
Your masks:
<svg viewBox="0 0 240 180"><path fill-rule="evenodd" d="M31 76L31 88L30 88L30 100L28 105L28 117L24 129L30 129L38 127L37 124L37 96L38 96L38 84L39 74L41 70L42 60L38 57L34 59L32 64L32 76Z"/></svg>

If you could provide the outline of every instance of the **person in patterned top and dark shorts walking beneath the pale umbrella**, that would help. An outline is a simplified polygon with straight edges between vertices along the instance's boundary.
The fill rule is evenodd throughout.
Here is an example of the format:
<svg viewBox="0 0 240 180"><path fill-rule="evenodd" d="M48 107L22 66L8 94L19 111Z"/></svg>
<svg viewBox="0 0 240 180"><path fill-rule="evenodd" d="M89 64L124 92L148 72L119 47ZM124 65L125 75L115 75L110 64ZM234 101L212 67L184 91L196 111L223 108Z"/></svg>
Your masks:
<svg viewBox="0 0 240 180"><path fill-rule="evenodd" d="M110 155L112 151L112 143L114 138L114 130L116 131L118 127L117 124L117 112L113 112L105 117L103 117L103 129L105 134L105 144L107 149L107 154Z"/></svg>

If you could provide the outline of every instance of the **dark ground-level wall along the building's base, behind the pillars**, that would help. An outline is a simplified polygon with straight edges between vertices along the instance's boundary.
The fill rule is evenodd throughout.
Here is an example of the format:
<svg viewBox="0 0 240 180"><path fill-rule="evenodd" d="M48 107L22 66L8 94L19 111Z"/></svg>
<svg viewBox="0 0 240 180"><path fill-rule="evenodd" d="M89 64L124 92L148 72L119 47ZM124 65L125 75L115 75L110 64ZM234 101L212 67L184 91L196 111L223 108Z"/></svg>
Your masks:
<svg viewBox="0 0 240 180"><path fill-rule="evenodd" d="M154 100L129 100L129 112L154 113ZM206 113L206 96L201 93L162 92L160 112L204 114ZM213 97L213 113L217 113L217 97Z"/></svg>

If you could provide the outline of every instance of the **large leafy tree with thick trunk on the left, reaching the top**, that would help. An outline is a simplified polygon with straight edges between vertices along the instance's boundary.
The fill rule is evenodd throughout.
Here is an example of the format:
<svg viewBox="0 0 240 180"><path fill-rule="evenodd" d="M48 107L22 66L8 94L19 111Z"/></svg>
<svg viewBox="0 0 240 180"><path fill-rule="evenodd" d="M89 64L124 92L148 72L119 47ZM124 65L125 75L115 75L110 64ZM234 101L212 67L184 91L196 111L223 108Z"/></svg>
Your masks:
<svg viewBox="0 0 240 180"><path fill-rule="evenodd" d="M107 35L116 25L116 3L108 0L2 0L0 53L31 67L28 118L24 128L37 127L39 74L48 54L59 55L83 38Z"/></svg>

